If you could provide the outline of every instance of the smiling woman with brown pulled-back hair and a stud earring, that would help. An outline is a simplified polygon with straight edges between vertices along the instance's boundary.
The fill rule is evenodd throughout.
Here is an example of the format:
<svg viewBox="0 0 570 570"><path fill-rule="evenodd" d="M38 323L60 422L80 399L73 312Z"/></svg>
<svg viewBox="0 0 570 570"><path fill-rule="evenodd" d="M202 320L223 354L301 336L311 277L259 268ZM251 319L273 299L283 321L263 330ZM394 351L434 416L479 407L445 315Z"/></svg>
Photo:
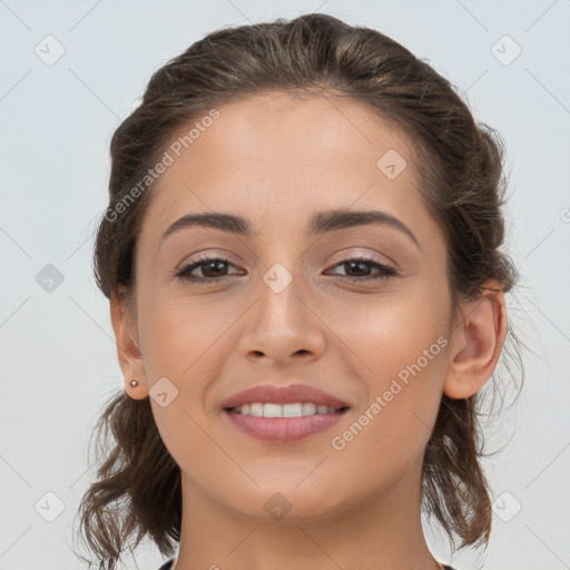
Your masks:
<svg viewBox="0 0 570 570"><path fill-rule="evenodd" d="M509 337L502 148L450 83L325 14L224 29L111 141L95 249L125 391L100 568L436 569L485 546L478 410Z"/></svg>

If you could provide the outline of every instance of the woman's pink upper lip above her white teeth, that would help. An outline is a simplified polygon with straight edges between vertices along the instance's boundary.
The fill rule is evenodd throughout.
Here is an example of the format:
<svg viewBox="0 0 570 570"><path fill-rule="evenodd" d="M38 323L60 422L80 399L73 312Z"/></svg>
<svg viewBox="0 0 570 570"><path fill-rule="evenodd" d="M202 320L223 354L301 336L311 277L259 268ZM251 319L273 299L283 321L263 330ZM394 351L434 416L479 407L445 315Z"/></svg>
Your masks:
<svg viewBox="0 0 570 570"><path fill-rule="evenodd" d="M287 386L261 384L229 396L223 402L222 407L239 407L244 404L253 404L254 402L272 402L276 404L313 402L317 405L326 405L335 409L348 407L346 402L343 402L315 386L309 386L308 384L289 384Z"/></svg>

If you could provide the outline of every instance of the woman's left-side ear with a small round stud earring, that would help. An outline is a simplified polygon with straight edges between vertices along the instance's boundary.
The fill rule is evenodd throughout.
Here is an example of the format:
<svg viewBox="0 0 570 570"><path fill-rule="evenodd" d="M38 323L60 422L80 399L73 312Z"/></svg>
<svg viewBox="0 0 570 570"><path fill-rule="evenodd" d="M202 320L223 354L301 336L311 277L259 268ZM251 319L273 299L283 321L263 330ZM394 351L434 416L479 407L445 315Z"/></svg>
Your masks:
<svg viewBox="0 0 570 570"><path fill-rule="evenodd" d="M111 295L110 313L117 341L117 356L125 377L125 392L134 400L142 400L148 395L142 355L138 348L137 338L131 332L132 322L126 311L125 301L115 293ZM131 380L138 380L138 386L131 386Z"/></svg>

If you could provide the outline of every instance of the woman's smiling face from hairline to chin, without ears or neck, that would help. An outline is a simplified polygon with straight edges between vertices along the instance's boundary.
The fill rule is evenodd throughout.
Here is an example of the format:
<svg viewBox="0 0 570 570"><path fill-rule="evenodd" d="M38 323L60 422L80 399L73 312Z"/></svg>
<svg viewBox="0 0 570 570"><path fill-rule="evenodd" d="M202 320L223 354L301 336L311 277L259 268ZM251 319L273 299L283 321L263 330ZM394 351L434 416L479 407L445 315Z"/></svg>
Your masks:
<svg viewBox="0 0 570 570"><path fill-rule="evenodd" d="M135 377L139 395L163 393L153 412L184 492L262 519L278 492L288 519L306 521L415 490L452 321L445 243L410 140L341 98L274 94L217 110L187 148L165 149L173 164L136 250ZM311 232L333 210L361 217ZM214 213L252 232L167 232ZM262 384L306 384L347 410L301 439L259 439L223 407Z"/></svg>

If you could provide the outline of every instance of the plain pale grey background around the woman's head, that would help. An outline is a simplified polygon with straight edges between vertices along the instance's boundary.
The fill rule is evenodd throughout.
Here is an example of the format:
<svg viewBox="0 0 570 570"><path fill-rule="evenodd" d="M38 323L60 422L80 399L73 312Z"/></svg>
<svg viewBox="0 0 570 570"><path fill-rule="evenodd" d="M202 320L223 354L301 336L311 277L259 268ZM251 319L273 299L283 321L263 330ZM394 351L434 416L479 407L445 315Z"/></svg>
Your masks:
<svg viewBox="0 0 570 570"><path fill-rule="evenodd" d="M522 274L508 304L532 353L522 395L488 435L507 445L485 463L491 546L452 562L570 568L568 0L0 0L0 570L81 568L69 544L94 476L88 436L122 382L90 266L112 131L150 73L205 33L309 11L374 27L426 58L505 139L509 250ZM63 278L51 292L48 264ZM426 533L450 561L441 534ZM128 568L160 560L145 547Z"/></svg>

